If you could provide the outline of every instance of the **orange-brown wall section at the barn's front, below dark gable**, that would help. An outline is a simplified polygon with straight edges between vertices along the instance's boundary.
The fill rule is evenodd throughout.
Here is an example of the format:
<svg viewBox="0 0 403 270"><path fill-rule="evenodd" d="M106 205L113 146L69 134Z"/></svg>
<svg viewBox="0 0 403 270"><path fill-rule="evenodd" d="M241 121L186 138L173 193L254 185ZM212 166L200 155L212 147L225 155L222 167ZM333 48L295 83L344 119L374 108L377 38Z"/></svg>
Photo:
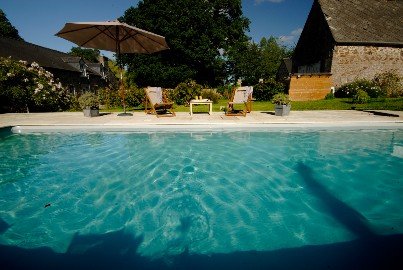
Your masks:
<svg viewBox="0 0 403 270"><path fill-rule="evenodd" d="M331 74L292 75L289 87L291 100L320 100L330 93Z"/></svg>

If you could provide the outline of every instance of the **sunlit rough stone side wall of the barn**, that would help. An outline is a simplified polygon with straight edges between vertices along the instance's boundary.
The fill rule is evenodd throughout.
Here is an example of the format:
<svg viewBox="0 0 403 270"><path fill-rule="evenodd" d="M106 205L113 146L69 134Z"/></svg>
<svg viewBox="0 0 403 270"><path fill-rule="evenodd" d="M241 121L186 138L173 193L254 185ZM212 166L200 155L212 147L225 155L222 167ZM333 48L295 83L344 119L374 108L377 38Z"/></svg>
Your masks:
<svg viewBox="0 0 403 270"><path fill-rule="evenodd" d="M334 47L331 73L336 87L356 79L373 79L376 74L390 70L403 76L403 48Z"/></svg>

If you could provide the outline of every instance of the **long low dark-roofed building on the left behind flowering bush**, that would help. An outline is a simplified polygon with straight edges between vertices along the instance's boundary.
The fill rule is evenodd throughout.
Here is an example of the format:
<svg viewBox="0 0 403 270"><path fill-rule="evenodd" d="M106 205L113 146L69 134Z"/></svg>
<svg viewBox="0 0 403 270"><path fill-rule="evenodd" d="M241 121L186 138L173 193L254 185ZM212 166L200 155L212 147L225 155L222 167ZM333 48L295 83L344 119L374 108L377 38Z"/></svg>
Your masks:
<svg viewBox="0 0 403 270"><path fill-rule="evenodd" d="M0 57L36 62L75 94L97 91L116 80L105 57L101 57L99 63L89 63L81 57L6 37L0 37Z"/></svg>

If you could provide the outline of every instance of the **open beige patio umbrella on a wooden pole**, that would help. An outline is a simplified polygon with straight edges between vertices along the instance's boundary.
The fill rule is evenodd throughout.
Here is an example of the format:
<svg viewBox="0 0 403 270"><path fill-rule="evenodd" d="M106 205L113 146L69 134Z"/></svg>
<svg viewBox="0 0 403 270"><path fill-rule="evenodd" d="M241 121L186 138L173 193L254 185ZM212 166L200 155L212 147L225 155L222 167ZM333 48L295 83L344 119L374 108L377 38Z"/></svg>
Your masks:
<svg viewBox="0 0 403 270"><path fill-rule="evenodd" d="M56 36L80 47L111 51L118 56L121 53L151 54L169 49L163 36L117 20L66 23ZM120 77L122 80L122 74ZM126 113L126 105L123 103Z"/></svg>

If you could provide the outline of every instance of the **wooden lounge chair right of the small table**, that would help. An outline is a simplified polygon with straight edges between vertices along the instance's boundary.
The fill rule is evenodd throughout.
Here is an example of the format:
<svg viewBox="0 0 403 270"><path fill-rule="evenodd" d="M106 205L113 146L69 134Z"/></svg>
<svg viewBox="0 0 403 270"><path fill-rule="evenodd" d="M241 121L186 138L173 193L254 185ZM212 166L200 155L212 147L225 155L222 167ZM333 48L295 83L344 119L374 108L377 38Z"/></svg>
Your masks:
<svg viewBox="0 0 403 270"><path fill-rule="evenodd" d="M225 115L228 116L246 116L246 113L252 111L252 86L242 86L234 89L231 101L228 102ZM243 104L243 110L235 110L234 105Z"/></svg>

